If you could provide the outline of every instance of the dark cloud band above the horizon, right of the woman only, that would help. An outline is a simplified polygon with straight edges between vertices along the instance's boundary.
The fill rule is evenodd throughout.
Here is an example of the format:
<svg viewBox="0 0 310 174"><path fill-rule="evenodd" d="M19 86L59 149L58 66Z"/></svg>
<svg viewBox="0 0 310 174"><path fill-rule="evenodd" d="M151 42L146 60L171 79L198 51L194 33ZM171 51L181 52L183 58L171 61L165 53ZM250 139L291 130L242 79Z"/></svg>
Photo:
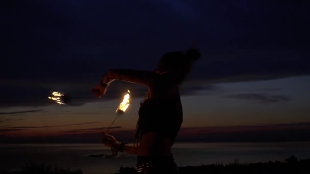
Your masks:
<svg viewBox="0 0 310 174"><path fill-rule="evenodd" d="M177 141L277 142L309 141L310 123L188 128L179 131Z"/></svg>

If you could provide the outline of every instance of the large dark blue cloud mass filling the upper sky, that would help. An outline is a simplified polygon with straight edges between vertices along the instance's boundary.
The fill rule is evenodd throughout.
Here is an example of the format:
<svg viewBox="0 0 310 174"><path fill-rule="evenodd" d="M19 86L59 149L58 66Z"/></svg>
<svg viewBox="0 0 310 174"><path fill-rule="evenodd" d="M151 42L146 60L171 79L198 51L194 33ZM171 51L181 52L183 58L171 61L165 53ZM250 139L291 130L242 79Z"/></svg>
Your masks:
<svg viewBox="0 0 310 174"><path fill-rule="evenodd" d="M310 74L308 1L3 4L1 106L47 104L46 92L56 88L86 94L108 69L153 70L164 52L192 40L202 58L189 80Z"/></svg>

